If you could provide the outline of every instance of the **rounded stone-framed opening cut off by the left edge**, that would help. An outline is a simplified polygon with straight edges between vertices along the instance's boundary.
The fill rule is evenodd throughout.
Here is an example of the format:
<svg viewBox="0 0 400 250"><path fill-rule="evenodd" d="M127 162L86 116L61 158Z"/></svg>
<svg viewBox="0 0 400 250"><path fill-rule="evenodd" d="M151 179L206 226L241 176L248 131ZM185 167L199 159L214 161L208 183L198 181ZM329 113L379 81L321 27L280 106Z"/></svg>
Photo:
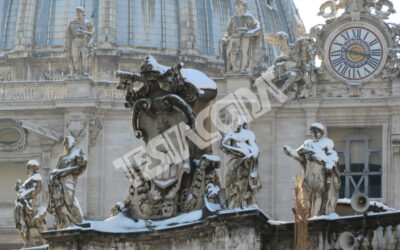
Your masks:
<svg viewBox="0 0 400 250"><path fill-rule="evenodd" d="M16 137L10 138L10 134ZM3 136L6 136L3 140ZM26 131L20 121L12 119L0 119L0 151L19 151L26 146Z"/></svg>

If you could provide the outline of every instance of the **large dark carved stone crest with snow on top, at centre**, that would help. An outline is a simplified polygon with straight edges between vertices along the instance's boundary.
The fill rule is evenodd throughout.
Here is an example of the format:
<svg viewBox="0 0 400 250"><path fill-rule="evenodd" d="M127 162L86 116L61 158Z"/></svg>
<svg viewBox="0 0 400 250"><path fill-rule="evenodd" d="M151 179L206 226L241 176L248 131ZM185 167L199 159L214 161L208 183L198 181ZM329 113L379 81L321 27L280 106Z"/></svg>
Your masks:
<svg viewBox="0 0 400 250"><path fill-rule="evenodd" d="M152 152L143 153L143 164L135 161L125 170L131 180L129 194L111 213L164 219L200 209L204 196L216 201L211 176L219 160L180 131L182 126L195 129L194 106L215 98L215 83L200 71L183 69L182 64L166 67L151 56L141 65L140 74L119 71L117 76L118 88L127 91L126 107L133 110L134 133ZM162 134L167 140L160 138ZM177 154L181 157L173 160L171 155Z"/></svg>

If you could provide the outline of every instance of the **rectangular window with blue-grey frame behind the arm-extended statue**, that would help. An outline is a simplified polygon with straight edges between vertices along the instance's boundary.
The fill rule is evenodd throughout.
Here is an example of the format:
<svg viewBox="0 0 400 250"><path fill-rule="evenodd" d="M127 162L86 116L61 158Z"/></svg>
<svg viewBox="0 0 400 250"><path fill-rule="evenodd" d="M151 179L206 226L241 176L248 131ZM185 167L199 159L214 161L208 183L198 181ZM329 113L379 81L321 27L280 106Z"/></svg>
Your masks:
<svg viewBox="0 0 400 250"><path fill-rule="evenodd" d="M340 198L382 196L382 129L329 129L339 154Z"/></svg>

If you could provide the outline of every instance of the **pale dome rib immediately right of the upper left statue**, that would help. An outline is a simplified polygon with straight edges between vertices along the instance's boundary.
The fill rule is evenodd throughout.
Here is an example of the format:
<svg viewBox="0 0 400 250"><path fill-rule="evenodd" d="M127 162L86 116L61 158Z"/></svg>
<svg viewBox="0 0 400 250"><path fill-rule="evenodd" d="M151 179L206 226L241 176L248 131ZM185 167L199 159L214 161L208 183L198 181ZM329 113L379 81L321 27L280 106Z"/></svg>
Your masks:
<svg viewBox="0 0 400 250"><path fill-rule="evenodd" d="M98 45L111 48L117 40L117 1L103 0L99 3Z"/></svg>

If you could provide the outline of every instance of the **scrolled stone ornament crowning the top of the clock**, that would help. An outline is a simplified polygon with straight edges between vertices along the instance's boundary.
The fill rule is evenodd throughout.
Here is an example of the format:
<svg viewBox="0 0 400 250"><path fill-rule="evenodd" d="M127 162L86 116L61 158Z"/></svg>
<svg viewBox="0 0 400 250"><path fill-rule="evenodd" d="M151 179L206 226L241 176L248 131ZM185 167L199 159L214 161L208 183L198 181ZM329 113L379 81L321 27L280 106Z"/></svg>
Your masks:
<svg viewBox="0 0 400 250"><path fill-rule="evenodd" d="M382 19L387 19L391 14L395 13L393 3L390 0L329 0L323 3L319 9L318 15L324 18L336 17L339 9L345 9L345 13L351 15L353 21L360 20L360 13L368 12L375 9L375 13ZM329 9L330 12L326 12Z"/></svg>

